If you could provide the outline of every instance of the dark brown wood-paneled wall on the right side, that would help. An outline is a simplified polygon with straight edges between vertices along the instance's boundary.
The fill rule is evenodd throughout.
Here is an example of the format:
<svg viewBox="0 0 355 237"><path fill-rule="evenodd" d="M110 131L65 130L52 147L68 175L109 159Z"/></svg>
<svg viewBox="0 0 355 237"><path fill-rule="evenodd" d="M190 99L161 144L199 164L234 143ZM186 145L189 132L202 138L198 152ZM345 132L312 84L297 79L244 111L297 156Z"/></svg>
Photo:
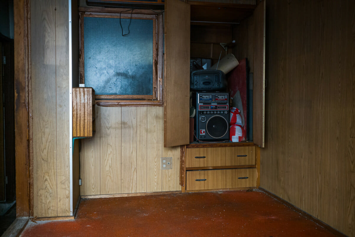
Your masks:
<svg viewBox="0 0 355 237"><path fill-rule="evenodd" d="M355 236L355 2L266 11L261 187Z"/></svg>

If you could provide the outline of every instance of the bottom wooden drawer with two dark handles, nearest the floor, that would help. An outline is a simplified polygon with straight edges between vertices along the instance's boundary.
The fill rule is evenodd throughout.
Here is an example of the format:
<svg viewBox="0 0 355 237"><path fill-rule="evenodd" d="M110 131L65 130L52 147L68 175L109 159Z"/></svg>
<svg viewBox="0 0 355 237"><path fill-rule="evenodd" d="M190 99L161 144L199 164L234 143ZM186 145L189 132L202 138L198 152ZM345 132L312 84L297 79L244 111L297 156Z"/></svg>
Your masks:
<svg viewBox="0 0 355 237"><path fill-rule="evenodd" d="M186 190L256 187L256 168L186 172Z"/></svg>

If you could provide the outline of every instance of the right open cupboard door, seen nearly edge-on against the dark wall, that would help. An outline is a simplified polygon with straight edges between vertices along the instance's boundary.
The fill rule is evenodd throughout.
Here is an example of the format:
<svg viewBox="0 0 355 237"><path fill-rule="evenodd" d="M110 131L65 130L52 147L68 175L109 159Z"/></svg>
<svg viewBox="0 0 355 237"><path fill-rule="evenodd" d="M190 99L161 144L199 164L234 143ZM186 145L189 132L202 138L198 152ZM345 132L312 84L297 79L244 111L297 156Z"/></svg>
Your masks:
<svg viewBox="0 0 355 237"><path fill-rule="evenodd" d="M265 1L254 11L253 142L264 147L265 114Z"/></svg>

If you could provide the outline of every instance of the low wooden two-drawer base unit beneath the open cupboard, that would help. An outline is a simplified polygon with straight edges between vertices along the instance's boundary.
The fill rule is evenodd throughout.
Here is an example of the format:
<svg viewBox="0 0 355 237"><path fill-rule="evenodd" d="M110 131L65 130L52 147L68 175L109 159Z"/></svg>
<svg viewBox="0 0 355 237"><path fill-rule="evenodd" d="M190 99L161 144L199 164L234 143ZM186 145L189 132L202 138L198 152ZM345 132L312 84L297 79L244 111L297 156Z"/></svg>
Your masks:
<svg viewBox="0 0 355 237"><path fill-rule="evenodd" d="M187 145L181 166L182 192L257 188L259 149L247 142Z"/></svg>

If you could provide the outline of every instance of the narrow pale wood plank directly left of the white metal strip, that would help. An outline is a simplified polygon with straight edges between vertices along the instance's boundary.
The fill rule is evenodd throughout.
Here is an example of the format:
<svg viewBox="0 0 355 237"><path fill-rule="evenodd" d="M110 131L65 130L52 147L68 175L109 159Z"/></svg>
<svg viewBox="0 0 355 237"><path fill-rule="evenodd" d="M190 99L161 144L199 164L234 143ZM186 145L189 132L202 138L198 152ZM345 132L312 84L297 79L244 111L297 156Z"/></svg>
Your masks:
<svg viewBox="0 0 355 237"><path fill-rule="evenodd" d="M57 215L69 216L71 196L69 168L69 9L65 0L55 1L55 6Z"/></svg>

